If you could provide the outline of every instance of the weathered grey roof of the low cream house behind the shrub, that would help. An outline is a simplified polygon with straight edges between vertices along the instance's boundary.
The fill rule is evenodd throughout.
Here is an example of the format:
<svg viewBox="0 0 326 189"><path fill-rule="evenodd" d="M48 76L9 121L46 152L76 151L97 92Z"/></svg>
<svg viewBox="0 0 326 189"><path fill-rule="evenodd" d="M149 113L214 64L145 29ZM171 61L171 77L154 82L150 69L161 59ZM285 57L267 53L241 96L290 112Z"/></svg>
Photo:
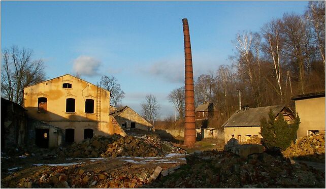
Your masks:
<svg viewBox="0 0 326 189"><path fill-rule="evenodd" d="M270 110L272 110L273 114L276 117L277 114L279 114L284 108L288 109L288 111L292 113L292 111L285 105L249 108L247 110L240 111L238 110L227 121L223 123L222 127L259 126L261 119L268 119L268 114Z"/></svg>

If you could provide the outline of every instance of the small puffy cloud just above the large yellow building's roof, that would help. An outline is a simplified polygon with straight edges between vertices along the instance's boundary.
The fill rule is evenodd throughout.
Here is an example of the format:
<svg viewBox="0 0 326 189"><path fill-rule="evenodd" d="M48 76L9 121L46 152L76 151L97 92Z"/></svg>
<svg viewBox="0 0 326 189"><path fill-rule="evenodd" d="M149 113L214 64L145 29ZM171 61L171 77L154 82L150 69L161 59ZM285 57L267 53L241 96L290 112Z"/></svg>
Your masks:
<svg viewBox="0 0 326 189"><path fill-rule="evenodd" d="M83 76L95 76L98 75L101 61L90 56L79 56L74 60L74 72Z"/></svg>

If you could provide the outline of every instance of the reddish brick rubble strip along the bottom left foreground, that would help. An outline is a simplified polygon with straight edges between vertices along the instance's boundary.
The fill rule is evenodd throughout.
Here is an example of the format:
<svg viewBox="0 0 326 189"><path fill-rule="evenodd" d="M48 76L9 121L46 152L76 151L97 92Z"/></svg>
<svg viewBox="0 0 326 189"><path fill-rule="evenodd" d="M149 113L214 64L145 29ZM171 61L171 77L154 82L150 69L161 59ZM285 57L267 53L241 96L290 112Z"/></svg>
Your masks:
<svg viewBox="0 0 326 189"><path fill-rule="evenodd" d="M84 165L44 167L18 182L3 183L5 185L2 186L13 188L135 188L157 177L157 169L162 168L143 168L142 172L129 172L128 167L122 166L107 172L101 169L88 170Z"/></svg>

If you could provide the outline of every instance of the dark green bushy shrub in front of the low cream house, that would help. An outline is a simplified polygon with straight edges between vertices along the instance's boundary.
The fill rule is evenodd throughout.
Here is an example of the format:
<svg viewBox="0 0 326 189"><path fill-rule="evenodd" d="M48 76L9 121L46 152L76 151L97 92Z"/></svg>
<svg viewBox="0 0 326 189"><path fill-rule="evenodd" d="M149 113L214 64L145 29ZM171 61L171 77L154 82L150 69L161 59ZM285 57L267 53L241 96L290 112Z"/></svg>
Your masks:
<svg viewBox="0 0 326 189"><path fill-rule="evenodd" d="M270 111L269 120L266 118L260 120L260 135L262 135L262 144L267 148L279 147L285 150L290 146L291 141L297 138L297 130L300 124L300 118L297 117L292 123L287 123L283 115L280 113L276 119L272 110Z"/></svg>

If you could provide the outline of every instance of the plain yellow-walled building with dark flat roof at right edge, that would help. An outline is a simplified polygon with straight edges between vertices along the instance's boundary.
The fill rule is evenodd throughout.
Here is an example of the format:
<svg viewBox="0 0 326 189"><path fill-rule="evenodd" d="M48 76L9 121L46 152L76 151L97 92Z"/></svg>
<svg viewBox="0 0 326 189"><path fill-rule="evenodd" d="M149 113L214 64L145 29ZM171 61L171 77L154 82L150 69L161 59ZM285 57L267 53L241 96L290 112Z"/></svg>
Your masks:
<svg viewBox="0 0 326 189"><path fill-rule="evenodd" d="M297 137L325 132L325 91L293 97L300 117Z"/></svg>

